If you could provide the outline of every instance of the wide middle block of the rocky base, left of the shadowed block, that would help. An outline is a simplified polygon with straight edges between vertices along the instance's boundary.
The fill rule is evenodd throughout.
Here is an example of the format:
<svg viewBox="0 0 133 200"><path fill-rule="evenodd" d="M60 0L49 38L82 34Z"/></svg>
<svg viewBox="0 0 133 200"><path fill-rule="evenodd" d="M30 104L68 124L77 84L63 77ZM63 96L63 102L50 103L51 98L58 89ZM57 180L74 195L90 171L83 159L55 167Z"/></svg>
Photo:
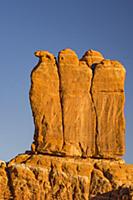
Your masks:
<svg viewBox="0 0 133 200"><path fill-rule="evenodd" d="M9 163L14 200L88 200L92 164L33 155Z"/></svg>

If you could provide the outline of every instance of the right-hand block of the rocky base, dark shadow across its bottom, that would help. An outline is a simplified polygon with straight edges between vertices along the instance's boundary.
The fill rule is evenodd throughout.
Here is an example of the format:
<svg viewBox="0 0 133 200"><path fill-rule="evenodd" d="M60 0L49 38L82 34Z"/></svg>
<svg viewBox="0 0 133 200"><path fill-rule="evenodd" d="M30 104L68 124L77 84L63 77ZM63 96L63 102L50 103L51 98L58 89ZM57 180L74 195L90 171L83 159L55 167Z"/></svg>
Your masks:
<svg viewBox="0 0 133 200"><path fill-rule="evenodd" d="M90 199L133 198L133 165L122 160L95 160L90 186Z"/></svg>

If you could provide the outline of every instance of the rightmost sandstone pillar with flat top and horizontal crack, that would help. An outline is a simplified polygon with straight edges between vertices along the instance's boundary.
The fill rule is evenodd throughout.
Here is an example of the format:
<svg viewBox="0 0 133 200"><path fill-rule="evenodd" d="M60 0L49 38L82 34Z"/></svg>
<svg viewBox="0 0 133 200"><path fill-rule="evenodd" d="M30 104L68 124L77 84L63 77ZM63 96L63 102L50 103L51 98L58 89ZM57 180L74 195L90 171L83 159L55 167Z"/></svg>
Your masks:
<svg viewBox="0 0 133 200"><path fill-rule="evenodd" d="M109 158L125 153L125 69L117 61L97 64L92 83L96 111L97 155Z"/></svg>

